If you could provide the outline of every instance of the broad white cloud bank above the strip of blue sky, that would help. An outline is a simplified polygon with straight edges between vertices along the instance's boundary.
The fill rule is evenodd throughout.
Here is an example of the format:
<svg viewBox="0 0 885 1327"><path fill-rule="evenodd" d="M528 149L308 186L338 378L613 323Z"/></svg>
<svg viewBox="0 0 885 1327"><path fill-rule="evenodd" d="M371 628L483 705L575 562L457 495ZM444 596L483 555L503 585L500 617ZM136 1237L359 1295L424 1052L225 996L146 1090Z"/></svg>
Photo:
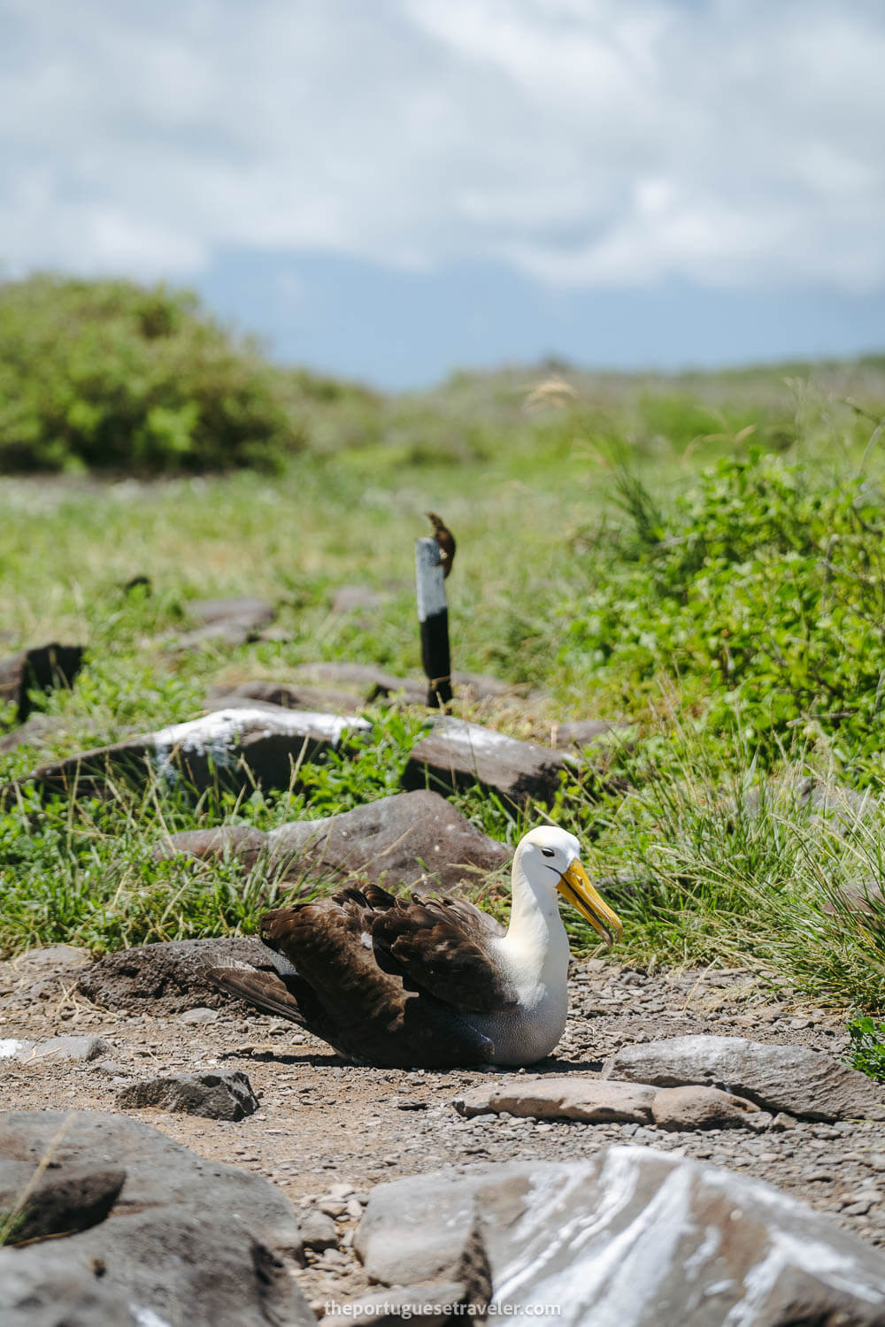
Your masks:
<svg viewBox="0 0 885 1327"><path fill-rule="evenodd" d="M0 264L885 285L856 0L0 0Z"/></svg>

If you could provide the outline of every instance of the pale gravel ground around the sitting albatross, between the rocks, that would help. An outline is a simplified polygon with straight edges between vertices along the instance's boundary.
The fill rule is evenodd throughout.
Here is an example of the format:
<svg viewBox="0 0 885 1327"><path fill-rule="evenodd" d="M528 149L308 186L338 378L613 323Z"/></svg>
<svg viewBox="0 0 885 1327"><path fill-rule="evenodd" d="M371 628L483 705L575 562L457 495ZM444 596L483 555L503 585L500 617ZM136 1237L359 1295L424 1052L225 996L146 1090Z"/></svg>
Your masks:
<svg viewBox="0 0 885 1327"><path fill-rule="evenodd" d="M452 1097L484 1074L374 1070L345 1064L291 1023L215 1010L154 1018L121 1015L73 993L76 970L0 963L0 1038L40 1040L98 1034L110 1050L86 1064L0 1062L0 1108L117 1111L121 1087L139 1078L204 1068L241 1070L260 1109L240 1123L134 1111L202 1156L277 1184L296 1206L337 1222L338 1246L308 1254L297 1277L322 1308L361 1292L366 1281L350 1251L374 1184L475 1162L586 1157L610 1143L654 1147L775 1184L873 1245L885 1246L885 1125L797 1124L747 1131L666 1133L630 1124L547 1123L507 1116L463 1120ZM535 1072L598 1075L610 1051L632 1042L693 1032L800 1043L841 1058L844 1019L789 1001L771 1003L748 973L644 971L605 961L576 965L572 1016L557 1056ZM523 1071L519 1071L523 1072Z"/></svg>

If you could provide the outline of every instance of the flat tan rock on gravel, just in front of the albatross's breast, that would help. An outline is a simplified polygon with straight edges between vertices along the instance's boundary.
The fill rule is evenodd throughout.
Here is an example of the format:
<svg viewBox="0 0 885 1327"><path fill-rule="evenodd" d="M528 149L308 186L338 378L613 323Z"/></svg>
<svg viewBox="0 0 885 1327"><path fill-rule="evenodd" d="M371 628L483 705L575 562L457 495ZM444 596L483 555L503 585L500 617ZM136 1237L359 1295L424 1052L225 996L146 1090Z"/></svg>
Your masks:
<svg viewBox="0 0 885 1327"><path fill-rule="evenodd" d="M533 1115L537 1120L650 1124L655 1095L655 1088L642 1083L517 1074L471 1088L455 1097L454 1105L466 1116L507 1111L510 1115Z"/></svg>

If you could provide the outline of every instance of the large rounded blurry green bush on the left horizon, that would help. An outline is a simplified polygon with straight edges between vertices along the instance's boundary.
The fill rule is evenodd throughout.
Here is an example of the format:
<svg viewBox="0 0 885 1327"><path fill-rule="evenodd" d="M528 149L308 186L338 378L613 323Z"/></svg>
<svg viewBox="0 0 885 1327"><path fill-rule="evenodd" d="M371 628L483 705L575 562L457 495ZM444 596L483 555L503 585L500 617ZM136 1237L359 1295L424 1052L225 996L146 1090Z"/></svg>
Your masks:
<svg viewBox="0 0 885 1327"><path fill-rule="evenodd" d="M0 470L220 470L304 442L276 370L190 292L36 276L0 288Z"/></svg>

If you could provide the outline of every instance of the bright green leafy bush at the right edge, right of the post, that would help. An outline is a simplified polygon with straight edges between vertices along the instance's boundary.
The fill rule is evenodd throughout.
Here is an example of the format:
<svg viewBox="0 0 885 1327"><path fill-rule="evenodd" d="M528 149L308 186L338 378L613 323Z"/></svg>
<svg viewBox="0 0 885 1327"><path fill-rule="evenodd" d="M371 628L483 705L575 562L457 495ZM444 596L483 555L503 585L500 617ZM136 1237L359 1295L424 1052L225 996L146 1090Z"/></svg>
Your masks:
<svg viewBox="0 0 885 1327"><path fill-rule="evenodd" d="M836 736L881 748L885 498L751 454L707 470L665 518L630 478L625 561L572 622L573 650L633 695L677 677L707 725L739 715L751 747ZM840 750L841 748L841 750Z"/></svg>

